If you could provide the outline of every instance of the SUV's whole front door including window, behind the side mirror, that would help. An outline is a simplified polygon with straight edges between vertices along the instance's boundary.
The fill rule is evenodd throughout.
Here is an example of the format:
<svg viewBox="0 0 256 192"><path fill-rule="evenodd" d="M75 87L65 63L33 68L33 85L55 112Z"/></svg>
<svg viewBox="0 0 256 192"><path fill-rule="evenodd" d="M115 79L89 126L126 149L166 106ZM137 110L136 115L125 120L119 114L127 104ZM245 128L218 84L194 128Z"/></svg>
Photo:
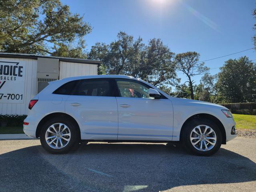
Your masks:
<svg viewBox="0 0 256 192"><path fill-rule="evenodd" d="M118 140L172 140L171 101L150 98L151 87L137 80L116 79L116 84Z"/></svg>

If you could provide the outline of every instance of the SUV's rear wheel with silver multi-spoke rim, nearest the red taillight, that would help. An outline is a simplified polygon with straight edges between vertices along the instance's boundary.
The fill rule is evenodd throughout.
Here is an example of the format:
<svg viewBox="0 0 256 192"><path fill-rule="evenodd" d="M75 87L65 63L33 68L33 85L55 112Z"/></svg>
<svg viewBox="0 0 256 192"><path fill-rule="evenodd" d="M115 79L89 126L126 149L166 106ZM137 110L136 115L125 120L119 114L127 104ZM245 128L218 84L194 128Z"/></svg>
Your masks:
<svg viewBox="0 0 256 192"><path fill-rule="evenodd" d="M67 153L78 146L78 129L70 119L49 119L42 125L40 133L42 147L52 154Z"/></svg>

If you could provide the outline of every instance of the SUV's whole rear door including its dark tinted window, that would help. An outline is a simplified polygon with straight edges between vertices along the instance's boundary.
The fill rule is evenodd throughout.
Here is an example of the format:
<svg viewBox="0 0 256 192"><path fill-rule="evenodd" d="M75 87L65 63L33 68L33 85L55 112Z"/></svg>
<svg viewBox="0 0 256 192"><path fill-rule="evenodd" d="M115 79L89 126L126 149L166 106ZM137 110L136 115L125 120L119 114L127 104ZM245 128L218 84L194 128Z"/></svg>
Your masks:
<svg viewBox="0 0 256 192"><path fill-rule="evenodd" d="M65 110L78 121L82 139L117 139L118 114L112 81L107 78L81 80L66 100Z"/></svg>

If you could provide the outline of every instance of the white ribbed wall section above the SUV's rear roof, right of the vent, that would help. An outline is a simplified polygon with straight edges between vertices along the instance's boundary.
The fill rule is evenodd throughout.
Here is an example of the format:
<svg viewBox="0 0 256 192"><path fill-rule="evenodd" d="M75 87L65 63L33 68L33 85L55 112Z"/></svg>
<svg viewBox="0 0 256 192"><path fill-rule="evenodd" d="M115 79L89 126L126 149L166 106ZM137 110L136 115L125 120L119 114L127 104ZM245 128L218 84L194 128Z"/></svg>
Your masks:
<svg viewBox="0 0 256 192"><path fill-rule="evenodd" d="M98 65L60 62L60 79L74 76L97 75Z"/></svg>

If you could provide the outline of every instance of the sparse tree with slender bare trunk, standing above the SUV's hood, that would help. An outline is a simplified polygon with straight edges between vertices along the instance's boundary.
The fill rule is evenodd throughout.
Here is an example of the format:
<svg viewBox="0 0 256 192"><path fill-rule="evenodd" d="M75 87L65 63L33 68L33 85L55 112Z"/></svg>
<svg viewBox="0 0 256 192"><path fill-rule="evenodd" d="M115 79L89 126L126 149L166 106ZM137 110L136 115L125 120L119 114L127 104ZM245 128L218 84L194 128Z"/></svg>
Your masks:
<svg viewBox="0 0 256 192"><path fill-rule="evenodd" d="M188 78L188 84L190 87L191 99L194 99L194 90L192 80L193 76L203 74L209 70L208 67L204 66L204 62L199 63L200 54L197 52L186 52L177 54L175 57L175 62L178 66L178 70L186 74ZM185 82L186 83L186 82Z"/></svg>

